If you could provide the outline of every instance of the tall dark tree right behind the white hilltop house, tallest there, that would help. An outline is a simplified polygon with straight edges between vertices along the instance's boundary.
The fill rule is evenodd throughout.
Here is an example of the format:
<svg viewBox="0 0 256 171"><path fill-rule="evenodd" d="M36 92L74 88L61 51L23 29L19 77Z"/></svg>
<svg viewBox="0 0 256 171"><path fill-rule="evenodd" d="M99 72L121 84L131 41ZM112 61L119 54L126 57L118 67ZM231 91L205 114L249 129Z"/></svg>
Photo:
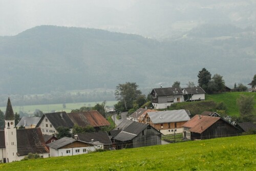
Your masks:
<svg viewBox="0 0 256 171"><path fill-rule="evenodd" d="M202 87L206 92L208 91L208 83L211 80L211 74L208 70L203 68L198 72L198 85L199 87Z"/></svg>

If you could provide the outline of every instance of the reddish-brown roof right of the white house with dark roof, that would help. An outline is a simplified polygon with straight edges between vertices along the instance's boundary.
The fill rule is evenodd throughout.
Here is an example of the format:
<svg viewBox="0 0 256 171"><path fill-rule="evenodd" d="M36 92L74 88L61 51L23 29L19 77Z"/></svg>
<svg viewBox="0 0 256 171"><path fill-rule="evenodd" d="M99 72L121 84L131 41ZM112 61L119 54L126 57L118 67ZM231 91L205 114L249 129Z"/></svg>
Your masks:
<svg viewBox="0 0 256 171"><path fill-rule="evenodd" d="M68 113L68 116L80 127L91 125L93 127L109 126L110 123L97 110Z"/></svg>

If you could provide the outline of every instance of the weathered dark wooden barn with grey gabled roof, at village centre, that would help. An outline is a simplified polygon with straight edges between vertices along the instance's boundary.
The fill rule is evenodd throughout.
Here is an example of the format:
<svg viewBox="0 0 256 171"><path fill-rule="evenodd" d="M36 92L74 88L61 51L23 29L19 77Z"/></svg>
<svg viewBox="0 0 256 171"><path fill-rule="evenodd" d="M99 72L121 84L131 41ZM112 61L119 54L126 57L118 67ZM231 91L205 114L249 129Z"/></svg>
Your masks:
<svg viewBox="0 0 256 171"><path fill-rule="evenodd" d="M122 129L114 138L113 144L116 149L138 148L141 146L150 146L161 144L161 133L148 124L138 123L132 120L123 120ZM119 127L117 126L117 129Z"/></svg>

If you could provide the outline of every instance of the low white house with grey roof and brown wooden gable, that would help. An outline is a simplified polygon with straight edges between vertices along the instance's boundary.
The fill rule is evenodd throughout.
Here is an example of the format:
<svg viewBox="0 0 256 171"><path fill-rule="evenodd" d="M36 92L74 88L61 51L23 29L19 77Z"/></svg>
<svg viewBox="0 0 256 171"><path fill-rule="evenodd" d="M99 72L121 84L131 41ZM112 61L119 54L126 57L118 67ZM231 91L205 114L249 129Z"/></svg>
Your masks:
<svg viewBox="0 0 256 171"><path fill-rule="evenodd" d="M50 149L50 157L86 154L97 149L97 146L93 145L92 143L69 137L60 138L47 144L47 146L49 146Z"/></svg>

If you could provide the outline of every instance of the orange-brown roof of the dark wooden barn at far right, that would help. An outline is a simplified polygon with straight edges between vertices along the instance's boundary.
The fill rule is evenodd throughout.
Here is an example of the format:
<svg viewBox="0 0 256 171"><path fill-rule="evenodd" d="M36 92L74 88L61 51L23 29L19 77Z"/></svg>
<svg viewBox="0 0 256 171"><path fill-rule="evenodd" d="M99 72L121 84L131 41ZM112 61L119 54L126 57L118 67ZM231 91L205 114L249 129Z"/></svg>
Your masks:
<svg viewBox="0 0 256 171"><path fill-rule="evenodd" d="M212 126L216 121L221 119L220 117L201 116L195 115L193 118L188 120L182 127L190 128L188 131L202 133L207 128Z"/></svg>

